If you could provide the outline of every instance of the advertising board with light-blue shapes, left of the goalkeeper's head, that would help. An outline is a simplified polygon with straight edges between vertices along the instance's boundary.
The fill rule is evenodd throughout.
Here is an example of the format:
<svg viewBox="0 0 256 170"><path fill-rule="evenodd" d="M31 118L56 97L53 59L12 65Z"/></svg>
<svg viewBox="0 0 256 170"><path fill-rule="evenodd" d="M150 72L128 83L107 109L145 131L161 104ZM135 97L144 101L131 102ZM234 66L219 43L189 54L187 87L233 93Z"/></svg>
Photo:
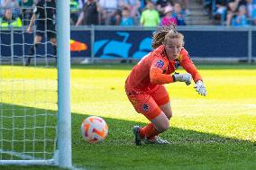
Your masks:
<svg viewBox="0 0 256 170"><path fill-rule="evenodd" d="M142 58L151 51L152 31L96 31L97 58Z"/></svg>

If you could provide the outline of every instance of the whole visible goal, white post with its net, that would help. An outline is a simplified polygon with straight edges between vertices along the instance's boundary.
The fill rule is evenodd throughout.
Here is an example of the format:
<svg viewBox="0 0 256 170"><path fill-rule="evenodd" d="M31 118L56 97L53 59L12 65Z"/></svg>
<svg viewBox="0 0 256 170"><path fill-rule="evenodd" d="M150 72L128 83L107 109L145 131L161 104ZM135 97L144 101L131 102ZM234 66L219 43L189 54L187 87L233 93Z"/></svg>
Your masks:
<svg viewBox="0 0 256 170"><path fill-rule="evenodd" d="M27 44L24 35L27 26L2 29L0 25L0 168L3 165L72 167L69 0L56 0L56 6L57 70L48 65L49 41L41 42L45 56L39 58L46 58L46 66L39 62L39 66L26 67L24 61L29 57L25 46L32 45ZM16 42L14 34L22 37L22 43ZM10 49L8 56L6 47ZM14 52L17 47L22 56ZM33 62L37 62L37 57Z"/></svg>

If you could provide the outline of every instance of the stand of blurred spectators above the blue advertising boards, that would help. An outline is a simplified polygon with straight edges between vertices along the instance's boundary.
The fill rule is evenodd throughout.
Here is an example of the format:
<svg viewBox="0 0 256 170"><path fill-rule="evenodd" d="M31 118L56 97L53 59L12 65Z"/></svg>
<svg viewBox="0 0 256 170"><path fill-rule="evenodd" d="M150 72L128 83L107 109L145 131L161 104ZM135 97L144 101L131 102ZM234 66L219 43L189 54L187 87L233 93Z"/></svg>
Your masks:
<svg viewBox="0 0 256 170"><path fill-rule="evenodd" d="M21 18L23 25L27 25L36 1L38 0L1 0L0 17L3 17L6 8L10 8L13 15ZM96 2L100 6L99 22L96 25L120 25L123 10L125 18L131 17L133 24L129 22L122 25L142 25L140 23L142 13L147 10L149 3L153 4L154 10L160 13L160 20L167 11L165 8L173 8L172 15L182 20L178 25L256 25L256 0L70 0L72 25L78 22L78 16L83 13L84 5L88 1ZM185 5L184 2L188 4ZM175 11L178 8L181 8L181 12L177 14ZM130 12L128 15L126 9ZM243 14L239 14L239 11ZM241 25L240 22L243 24Z"/></svg>

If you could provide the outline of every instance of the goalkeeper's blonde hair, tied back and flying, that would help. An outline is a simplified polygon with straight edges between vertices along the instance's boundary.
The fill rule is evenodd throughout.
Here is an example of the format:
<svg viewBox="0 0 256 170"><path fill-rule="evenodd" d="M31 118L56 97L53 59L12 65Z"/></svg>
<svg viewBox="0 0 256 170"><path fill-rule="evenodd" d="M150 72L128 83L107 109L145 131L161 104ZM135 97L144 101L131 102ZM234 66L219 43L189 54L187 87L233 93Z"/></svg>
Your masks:
<svg viewBox="0 0 256 170"><path fill-rule="evenodd" d="M166 44L169 39L180 39L182 40L182 46L184 45L184 35L176 31L176 26L173 24L161 27L158 31L154 31L151 47L157 49L160 45Z"/></svg>

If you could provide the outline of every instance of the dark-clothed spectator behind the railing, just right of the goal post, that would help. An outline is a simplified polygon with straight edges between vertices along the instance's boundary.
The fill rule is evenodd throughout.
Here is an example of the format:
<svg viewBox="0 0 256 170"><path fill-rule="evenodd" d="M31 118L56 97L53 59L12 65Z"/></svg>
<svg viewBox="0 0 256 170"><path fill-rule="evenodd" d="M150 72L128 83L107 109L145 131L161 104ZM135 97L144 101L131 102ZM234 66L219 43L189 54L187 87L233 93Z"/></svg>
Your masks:
<svg viewBox="0 0 256 170"><path fill-rule="evenodd" d="M87 0L84 4L82 12L79 15L76 26L83 25L97 25L99 23L100 5L96 0Z"/></svg>

